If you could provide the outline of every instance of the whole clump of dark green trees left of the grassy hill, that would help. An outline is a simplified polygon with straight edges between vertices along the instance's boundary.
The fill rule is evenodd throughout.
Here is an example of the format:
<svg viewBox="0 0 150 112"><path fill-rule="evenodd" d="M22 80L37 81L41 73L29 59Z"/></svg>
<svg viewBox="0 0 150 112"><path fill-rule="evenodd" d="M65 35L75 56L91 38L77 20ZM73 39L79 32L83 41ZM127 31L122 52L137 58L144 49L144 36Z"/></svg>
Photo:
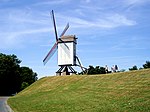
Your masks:
<svg viewBox="0 0 150 112"><path fill-rule="evenodd" d="M20 63L16 55L0 53L0 96L18 93L38 79L36 72Z"/></svg>

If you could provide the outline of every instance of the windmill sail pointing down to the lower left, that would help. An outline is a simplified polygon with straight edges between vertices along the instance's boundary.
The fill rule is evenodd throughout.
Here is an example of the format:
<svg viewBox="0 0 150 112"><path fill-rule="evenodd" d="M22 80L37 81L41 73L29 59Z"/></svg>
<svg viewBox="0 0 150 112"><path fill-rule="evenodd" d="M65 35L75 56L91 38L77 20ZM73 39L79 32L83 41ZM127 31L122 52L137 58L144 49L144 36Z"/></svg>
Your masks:
<svg viewBox="0 0 150 112"><path fill-rule="evenodd" d="M43 60L44 65L48 62L48 60L54 55L54 53L57 50L57 43L54 44L54 46L51 48L51 50L48 52L46 57Z"/></svg>

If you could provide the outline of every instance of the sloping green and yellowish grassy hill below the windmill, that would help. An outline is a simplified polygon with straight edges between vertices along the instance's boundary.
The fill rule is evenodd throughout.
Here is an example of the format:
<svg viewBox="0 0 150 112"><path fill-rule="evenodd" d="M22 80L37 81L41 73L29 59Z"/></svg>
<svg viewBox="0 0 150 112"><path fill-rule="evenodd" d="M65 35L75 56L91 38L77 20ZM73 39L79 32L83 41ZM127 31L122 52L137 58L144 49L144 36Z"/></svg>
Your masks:
<svg viewBox="0 0 150 112"><path fill-rule="evenodd" d="M15 112L150 112L150 69L45 77L8 104Z"/></svg>

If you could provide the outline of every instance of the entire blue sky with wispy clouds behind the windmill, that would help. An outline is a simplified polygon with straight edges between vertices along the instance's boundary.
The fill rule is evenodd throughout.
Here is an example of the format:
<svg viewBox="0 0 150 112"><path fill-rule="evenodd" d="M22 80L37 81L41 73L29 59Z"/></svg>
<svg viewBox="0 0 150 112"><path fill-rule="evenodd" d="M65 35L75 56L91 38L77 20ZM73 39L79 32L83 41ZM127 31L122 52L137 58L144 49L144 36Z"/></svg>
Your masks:
<svg viewBox="0 0 150 112"><path fill-rule="evenodd" d="M150 0L0 0L0 53L15 54L38 74L54 76L57 52L44 66L58 34L76 35L83 66L142 67L150 61ZM80 68L75 67L80 72Z"/></svg>

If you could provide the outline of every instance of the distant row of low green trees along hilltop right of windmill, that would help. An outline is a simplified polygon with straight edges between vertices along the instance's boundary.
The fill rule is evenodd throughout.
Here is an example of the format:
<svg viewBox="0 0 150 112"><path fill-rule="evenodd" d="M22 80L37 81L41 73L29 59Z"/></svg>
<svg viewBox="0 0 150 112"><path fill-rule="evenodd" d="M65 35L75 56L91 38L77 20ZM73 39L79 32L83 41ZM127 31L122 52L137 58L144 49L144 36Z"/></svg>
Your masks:
<svg viewBox="0 0 150 112"><path fill-rule="evenodd" d="M129 71L132 70L140 70L140 69L147 69L150 68L150 61L146 61L145 64L143 64L143 67L139 68L134 65L133 67L129 68ZM107 71L106 67L100 67L100 66L92 66L89 65L89 67L84 70L83 72L80 72L79 75L81 74L87 74L87 75L93 75L93 74L106 74L106 73L111 73L112 71ZM125 69L117 70L117 72L125 72Z"/></svg>

